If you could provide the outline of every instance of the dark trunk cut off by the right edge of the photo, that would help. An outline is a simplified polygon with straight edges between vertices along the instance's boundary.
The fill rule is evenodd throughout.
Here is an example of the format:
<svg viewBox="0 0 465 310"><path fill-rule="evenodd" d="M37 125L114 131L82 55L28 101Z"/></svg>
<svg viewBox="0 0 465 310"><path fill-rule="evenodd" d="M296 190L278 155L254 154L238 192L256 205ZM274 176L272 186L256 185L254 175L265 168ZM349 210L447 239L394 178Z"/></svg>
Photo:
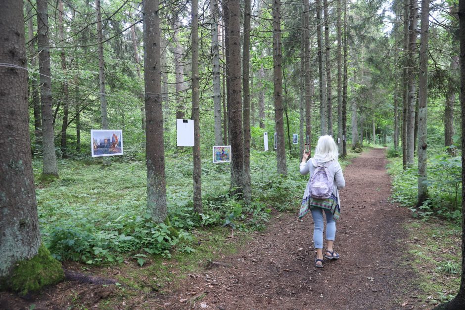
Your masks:
<svg viewBox="0 0 465 310"><path fill-rule="evenodd" d="M459 1L460 39L460 105L462 107L462 150L465 150L465 1ZM462 152L462 167L465 167L465 152ZM465 197L465 169L462 169L462 197ZM462 215L465 214L465 199L462 199ZM465 216L462 216L462 276L457 296L439 305L435 310L456 310L465 308Z"/></svg>

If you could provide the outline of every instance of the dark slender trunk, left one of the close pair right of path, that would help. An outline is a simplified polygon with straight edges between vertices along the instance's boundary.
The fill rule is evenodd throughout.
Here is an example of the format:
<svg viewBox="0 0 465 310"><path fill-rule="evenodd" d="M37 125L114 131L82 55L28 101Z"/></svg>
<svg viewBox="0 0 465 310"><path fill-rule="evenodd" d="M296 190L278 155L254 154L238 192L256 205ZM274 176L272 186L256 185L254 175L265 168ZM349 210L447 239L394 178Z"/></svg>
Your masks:
<svg viewBox="0 0 465 310"><path fill-rule="evenodd" d="M404 0L404 61L403 61L403 95L402 95L402 167L407 168L407 135L409 116L409 10L410 0Z"/></svg>

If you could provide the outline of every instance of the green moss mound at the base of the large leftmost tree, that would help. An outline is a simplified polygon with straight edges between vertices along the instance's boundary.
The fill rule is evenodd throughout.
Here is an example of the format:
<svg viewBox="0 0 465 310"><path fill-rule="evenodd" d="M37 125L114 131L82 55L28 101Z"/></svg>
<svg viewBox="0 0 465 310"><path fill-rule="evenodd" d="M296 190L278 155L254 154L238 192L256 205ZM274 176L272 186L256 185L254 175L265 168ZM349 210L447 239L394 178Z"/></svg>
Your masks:
<svg viewBox="0 0 465 310"><path fill-rule="evenodd" d="M2 278L1 288L13 290L19 295L38 291L45 285L56 284L64 279L61 264L51 257L45 245L30 260L18 262L8 277Z"/></svg>

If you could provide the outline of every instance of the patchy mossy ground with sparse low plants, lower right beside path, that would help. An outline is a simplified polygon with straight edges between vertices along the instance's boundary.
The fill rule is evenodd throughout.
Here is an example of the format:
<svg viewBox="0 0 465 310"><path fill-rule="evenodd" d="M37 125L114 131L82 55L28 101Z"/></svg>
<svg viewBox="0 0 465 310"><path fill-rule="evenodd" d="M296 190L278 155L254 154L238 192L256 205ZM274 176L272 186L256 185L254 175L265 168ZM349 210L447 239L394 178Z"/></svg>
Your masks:
<svg viewBox="0 0 465 310"><path fill-rule="evenodd" d="M436 305L451 300L457 295L461 274L460 225L448 221L427 222L409 220L409 265L418 274L416 281L423 303Z"/></svg>

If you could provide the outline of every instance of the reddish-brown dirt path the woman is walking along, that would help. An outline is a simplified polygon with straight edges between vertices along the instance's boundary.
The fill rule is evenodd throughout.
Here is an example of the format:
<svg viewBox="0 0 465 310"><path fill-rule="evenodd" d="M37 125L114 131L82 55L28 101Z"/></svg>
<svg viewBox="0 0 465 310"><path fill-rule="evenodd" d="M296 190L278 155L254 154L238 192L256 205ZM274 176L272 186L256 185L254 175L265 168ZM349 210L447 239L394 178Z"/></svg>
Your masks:
<svg viewBox="0 0 465 310"><path fill-rule="evenodd" d="M410 216L388 202L385 167L385 149L372 149L344 170L335 241L339 260L315 268L312 217L299 221L296 206L292 213L275 214L265 232L222 260L233 267L188 276L179 290L150 304L166 309L413 309L415 274L402 258L408 236L403 223Z"/></svg>

